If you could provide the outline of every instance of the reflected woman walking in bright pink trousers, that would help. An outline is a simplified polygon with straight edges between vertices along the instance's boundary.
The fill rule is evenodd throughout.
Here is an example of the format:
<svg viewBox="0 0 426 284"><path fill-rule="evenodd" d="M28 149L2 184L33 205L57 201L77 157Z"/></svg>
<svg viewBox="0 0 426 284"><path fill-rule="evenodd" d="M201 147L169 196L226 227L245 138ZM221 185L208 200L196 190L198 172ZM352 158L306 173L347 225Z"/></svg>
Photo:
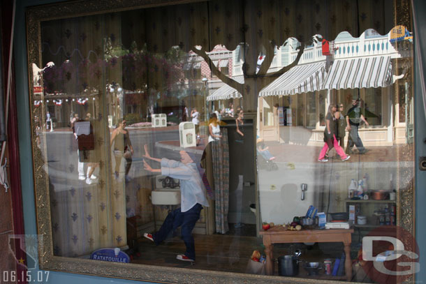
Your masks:
<svg viewBox="0 0 426 284"><path fill-rule="evenodd" d="M324 147L321 149L321 152L318 156L319 162L328 162L328 158L325 158L327 150L333 146L336 149L337 154L339 154L341 160L348 160L351 156L346 156L345 152L339 146L337 142L337 121L340 118L340 112L336 111L336 105L330 105L328 107L327 116L325 117L325 130L324 130Z"/></svg>

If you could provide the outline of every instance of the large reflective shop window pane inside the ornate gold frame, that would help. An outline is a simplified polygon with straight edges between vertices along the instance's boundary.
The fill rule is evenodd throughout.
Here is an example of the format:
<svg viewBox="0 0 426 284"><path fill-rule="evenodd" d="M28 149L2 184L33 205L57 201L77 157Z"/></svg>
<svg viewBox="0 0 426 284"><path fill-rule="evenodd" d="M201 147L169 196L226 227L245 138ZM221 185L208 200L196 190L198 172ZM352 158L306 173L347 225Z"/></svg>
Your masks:
<svg viewBox="0 0 426 284"><path fill-rule="evenodd" d="M173 12L41 23L31 104L54 255L120 248L135 264L369 282L362 238L402 224L412 186L413 70L389 77L412 62L412 43L353 54L391 35L268 47L229 33L211 46L225 27L205 21L232 12L172 36L184 21ZM141 17L151 14L163 20Z"/></svg>

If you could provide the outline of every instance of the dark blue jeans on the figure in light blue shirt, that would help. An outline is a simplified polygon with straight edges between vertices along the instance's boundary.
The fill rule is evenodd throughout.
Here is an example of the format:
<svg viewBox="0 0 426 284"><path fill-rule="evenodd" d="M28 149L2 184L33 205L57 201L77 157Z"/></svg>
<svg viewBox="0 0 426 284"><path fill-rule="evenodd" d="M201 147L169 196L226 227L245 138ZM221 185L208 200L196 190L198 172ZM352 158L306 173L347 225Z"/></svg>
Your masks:
<svg viewBox="0 0 426 284"><path fill-rule="evenodd" d="M195 204L186 212L181 212L180 208L171 211L158 232L152 234L154 243L158 246L166 239L170 231L181 227L182 239L186 246L185 255L191 260L196 260L196 247L192 237L192 230L196 222L200 218L201 209L203 206Z"/></svg>

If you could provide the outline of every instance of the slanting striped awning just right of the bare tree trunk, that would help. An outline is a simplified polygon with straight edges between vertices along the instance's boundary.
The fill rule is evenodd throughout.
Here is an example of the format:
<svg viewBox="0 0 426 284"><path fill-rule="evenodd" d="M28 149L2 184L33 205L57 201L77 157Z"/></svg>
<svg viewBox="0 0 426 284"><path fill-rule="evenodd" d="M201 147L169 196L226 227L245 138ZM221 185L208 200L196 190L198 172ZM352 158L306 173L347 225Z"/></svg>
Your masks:
<svg viewBox="0 0 426 284"><path fill-rule="evenodd" d="M259 96L284 96L319 91L323 86L325 61L297 65L259 92Z"/></svg>

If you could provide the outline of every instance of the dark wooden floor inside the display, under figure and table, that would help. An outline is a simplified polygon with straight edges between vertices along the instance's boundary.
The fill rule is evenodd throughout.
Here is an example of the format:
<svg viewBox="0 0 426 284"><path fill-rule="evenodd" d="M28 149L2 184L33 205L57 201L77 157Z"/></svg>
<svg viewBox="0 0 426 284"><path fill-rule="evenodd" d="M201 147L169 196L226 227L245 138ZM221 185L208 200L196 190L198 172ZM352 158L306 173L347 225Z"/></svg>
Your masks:
<svg viewBox="0 0 426 284"><path fill-rule="evenodd" d="M156 246L154 242L142 238L138 240L140 257L135 257L132 263L159 265L163 267L181 267L188 269L204 269L212 271L228 271L246 273L247 263L254 250L264 253L262 239L257 237L245 237L240 235L200 235L194 234L196 243L196 262L176 260L176 255L185 252L185 245L179 236L170 237L162 244ZM274 246L274 257L288 255L293 249L300 249L302 255L300 260L322 262L324 258L339 257L343 251L343 245L337 243L315 244L276 244ZM302 269L298 277L323 278L323 276L309 276ZM275 275L278 274L278 264L275 263ZM342 279L342 278L340 278ZM335 278L335 280L340 280ZM344 279L344 278L343 278Z"/></svg>

